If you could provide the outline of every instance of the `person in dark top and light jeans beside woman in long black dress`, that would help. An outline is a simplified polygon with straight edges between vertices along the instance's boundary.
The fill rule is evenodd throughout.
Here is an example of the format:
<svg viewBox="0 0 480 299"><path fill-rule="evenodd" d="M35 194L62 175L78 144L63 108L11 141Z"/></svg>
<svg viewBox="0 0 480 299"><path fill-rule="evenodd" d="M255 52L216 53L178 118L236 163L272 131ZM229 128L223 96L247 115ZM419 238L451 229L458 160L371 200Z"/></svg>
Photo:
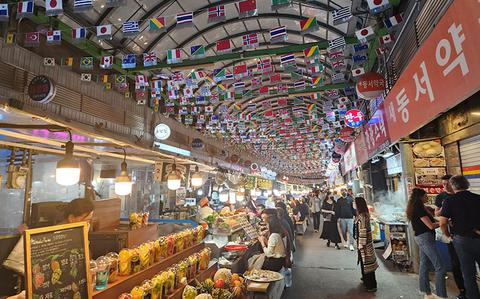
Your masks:
<svg viewBox="0 0 480 299"><path fill-rule="evenodd" d="M336 214L340 224L340 231L345 241L344 246L353 251L353 198L347 195L345 189L342 190L342 196L337 201Z"/></svg>

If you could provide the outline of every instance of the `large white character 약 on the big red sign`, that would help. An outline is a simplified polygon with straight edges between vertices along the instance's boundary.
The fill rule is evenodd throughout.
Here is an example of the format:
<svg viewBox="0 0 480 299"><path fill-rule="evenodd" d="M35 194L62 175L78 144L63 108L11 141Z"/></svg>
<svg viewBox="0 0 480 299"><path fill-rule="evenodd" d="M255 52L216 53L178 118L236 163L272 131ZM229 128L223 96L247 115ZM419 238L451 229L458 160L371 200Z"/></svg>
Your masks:
<svg viewBox="0 0 480 299"><path fill-rule="evenodd" d="M462 75L465 76L469 73L467 60L465 59L465 53L463 53L462 43L465 41L465 34L462 32L462 25L455 25L453 23L448 28L448 33L452 36L453 46L455 47L455 52L457 58L455 58L450 65L448 65L443 70L443 76L446 77L455 67L460 65ZM450 41L446 38L440 40L435 49L435 58L438 65L445 66L450 61L452 55L452 46Z"/></svg>

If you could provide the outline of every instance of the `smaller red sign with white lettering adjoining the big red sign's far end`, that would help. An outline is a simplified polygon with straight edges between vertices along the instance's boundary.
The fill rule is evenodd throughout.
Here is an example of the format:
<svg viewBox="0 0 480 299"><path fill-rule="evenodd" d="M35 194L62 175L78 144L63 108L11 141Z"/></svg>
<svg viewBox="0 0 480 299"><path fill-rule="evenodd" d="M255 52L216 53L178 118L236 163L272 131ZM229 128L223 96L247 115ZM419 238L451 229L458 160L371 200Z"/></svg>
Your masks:
<svg viewBox="0 0 480 299"><path fill-rule="evenodd" d="M365 144L369 158L390 145L383 104L380 104L377 111L365 125L363 134L365 135Z"/></svg>

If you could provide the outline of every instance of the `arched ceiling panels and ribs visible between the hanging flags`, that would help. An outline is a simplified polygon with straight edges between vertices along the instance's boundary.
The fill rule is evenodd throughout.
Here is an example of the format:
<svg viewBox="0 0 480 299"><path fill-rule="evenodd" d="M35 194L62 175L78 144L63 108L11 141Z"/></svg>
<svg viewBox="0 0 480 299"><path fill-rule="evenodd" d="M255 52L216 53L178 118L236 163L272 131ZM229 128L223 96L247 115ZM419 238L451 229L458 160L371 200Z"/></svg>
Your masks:
<svg viewBox="0 0 480 299"><path fill-rule="evenodd" d="M292 1L289 7L272 10L271 0L256 0L257 14L246 18L239 18L238 2L239 0L128 0L120 7L107 7L106 0L97 0L93 10L85 13L73 13L71 8L67 8L65 14L60 16L59 19L71 27L112 24L114 28L112 40L98 41L92 35L90 37L91 41L97 43L106 52L114 53L117 57L127 53L141 55L146 52L155 52L160 62L165 62L166 52L169 49L180 48L185 57L188 57L188 49L193 45L205 46L207 57L218 56L220 53L217 53L215 49L216 42L224 39L231 41L234 53L243 52L242 36L248 33L258 35L259 43L256 49L266 50L265 53L288 45L326 43L338 37L353 36L355 23L359 20L358 16L354 16L349 22L334 25L331 13L342 7L359 5L360 1ZM209 23L207 10L217 5L225 5L226 19ZM176 25L175 15L183 12L193 12L193 26L179 27ZM147 20L156 16L165 16L166 30L164 32L150 32L148 30ZM316 17L318 28L304 34L299 28L299 22L309 17ZM129 20L141 21L141 30L135 37L125 38L121 30L122 23ZM270 43L270 30L280 26L286 26L288 40L278 44ZM305 80L308 90L310 81L314 76L307 70L308 67L305 64L303 53L295 53L296 67L294 71L281 68L278 55L273 54L248 59L243 58L242 55L241 59L219 60L214 63L213 68L230 69L232 66L245 63L249 69L255 69L258 59L270 58L275 72L281 74L282 82L290 88L289 94L259 94L255 91L249 96L241 97L241 99L235 101L214 103L213 115L219 114L219 123L222 125L217 125L215 129L212 129L212 127L215 127L214 125L210 128L209 126L197 128L205 134L238 145L239 151L253 152L265 165L279 173L292 176L306 174L321 176L330 161L335 146L341 146L343 143L337 138L339 127L331 125L330 129L326 129L328 126L326 126L327 122L324 118L326 117L325 111L328 110L322 108L325 103L335 108L338 105L336 102L338 97L348 96L343 91L343 87L349 85L350 78L346 75L342 83L344 85L331 85L329 75L334 73L335 70L330 65L326 50L320 50L319 61L325 67L325 71L320 74L325 82L322 86L325 85L324 89L339 90L336 97L322 94L314 98L312 97L314 92L303 92L302 90L290 92L292 90L291 85L299 80ZM205 74L209 74L212 72L211 63L209 65L207 67L192 67L189 71L203 71ZM348 74L350 69L351 66L347 65L345 70L342 71ZM158 75L163 73L170 75L174 71L165 67L152 70L147 74ZM296 74L294 74L295 72ZM262 77L263 86L272 85L269 82L269 74L256 74L256 76ZM253 89L250 80L251 78L245 79L245 81L248 81L246 82L246 89ZM198 90L204 84L204 82L200 82ZM215 85L210 87L213 92L218 90ZM231 90L229 84L226 84L226 88ZM196 96L198 96L198 93ZM286 105L279 105L279 99L287 99ZM348 107L351 107L353 103L351 100ZM246 106L252 103L257 104L254 109ZM222 105L227 106L226 114L220 112L220 108L224 108ZM240 105L241 109L234 111L235 105ZM314 108L315 113L312 112L313 106L316 106ZM286 114L280 115L285 113L284 110L287 109L289 111L288 116ZM265 115L270 112L273 113L273 118L266 118ZM229 116L232 114L236 114L232 117L234 119L232 120L234 122L233 129L225 129L224 125L228 124ZM239 115L246 116L247 119L242 119ZM254 116L260 117L254 118ZM318 120L320 118L321 121ZM181 118L177 117L177 119ZM293 124L286 126L287 120L293 122ZM338 117L336 121L339 121ZM246 128L242 129L244 126ZM297 138L299 135L303 137Z"/></svg>

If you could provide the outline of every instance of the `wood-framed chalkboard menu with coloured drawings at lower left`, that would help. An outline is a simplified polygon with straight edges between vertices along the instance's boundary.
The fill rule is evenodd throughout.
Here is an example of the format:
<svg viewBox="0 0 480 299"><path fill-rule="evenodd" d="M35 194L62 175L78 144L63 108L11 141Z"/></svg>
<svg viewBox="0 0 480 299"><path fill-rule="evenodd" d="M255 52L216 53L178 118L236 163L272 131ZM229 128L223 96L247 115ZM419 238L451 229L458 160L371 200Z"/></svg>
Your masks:
<svg viewBox="0 0 480 299"><path fill-rule="evenodd" d="M84 222L25 231L28 299L91 298Z"/></svg>

